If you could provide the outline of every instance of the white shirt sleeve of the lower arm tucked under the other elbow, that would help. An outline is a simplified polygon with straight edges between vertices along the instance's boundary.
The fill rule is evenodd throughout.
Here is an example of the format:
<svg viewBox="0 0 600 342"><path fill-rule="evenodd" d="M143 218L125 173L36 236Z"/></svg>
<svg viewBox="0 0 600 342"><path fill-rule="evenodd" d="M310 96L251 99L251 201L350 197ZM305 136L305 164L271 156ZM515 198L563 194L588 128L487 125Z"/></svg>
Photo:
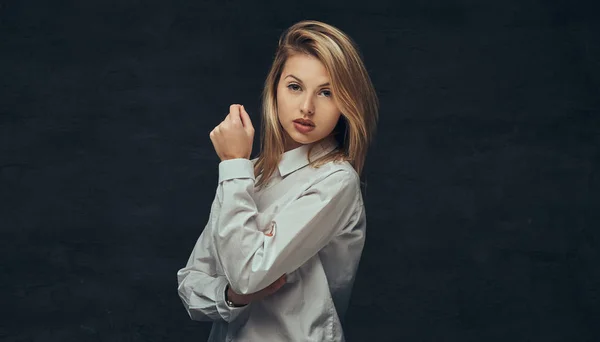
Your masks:
<svg viewBox="0 0 600 342"><path fill-rule="evenodd" d="M211 209L211 217L218 213L215 199ZM196 241L187 265L177 272L178 293L190 318L195 321L224 320L231 322L247 307L229 307L225 303L225 286L227 278L218 272L216 260L211 246L210 225L204 229Z"/></svg>

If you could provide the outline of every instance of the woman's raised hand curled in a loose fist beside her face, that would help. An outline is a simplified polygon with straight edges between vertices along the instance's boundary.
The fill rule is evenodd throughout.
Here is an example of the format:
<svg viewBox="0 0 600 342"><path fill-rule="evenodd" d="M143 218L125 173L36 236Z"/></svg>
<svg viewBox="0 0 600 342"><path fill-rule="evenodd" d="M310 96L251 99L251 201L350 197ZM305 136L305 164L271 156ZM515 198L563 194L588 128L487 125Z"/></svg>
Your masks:
<svg viewBox="0 0 600 342"><path fill-rule="evenodd" d="M250 159L254 142L254 126L244 106L232 104L229 114L210 132L210 140L221 161Z"/></svg>

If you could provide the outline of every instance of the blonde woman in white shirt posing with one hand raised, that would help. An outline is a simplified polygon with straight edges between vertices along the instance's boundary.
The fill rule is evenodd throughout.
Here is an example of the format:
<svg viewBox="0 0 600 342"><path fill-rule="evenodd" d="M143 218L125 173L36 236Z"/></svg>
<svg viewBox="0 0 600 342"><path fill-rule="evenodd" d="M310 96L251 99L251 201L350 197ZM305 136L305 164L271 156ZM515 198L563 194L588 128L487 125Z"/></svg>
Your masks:
<svg viewBox="0 0 600 342"><path fill-rule="evenodd" d="M344 341L365 243L360 174L378 100L352 40L287 29L263 92L261 150L243 105L210 132L221 159L210 217L178 291L209 341Z"/></svg>

